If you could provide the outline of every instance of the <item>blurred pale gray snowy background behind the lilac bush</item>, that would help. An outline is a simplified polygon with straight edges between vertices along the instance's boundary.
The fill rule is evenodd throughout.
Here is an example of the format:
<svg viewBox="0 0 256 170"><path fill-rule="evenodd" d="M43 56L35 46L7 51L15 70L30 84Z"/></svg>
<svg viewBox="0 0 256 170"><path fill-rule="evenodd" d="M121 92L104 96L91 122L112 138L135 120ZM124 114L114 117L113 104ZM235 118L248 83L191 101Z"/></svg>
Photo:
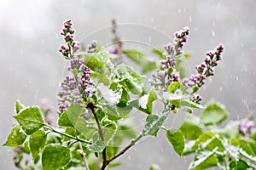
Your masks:
<svg viewBox="0 0 256 170"><path fill-rule="evenodd" d="M216 76L207 81L201 90L204 104L211 98L217 99L234 119L246 116L248 111L256 111L255 9L256 2L253 0L1 0L0 143L3 144L14 124L11 116L14 114L15 99L20 99L25 105L38 105L46 97L56 105L58 83L67 65L58 52L63 43L59 32L67 19L73 20L76 39L86 37L83 42L87 44L90 41L86 40L90 38L103 44L109 42L110 30L98 31L93 34L95 37L87 36L110 26L113 18L119 24L152 26L171 38L174 31L189 26L189 40L184 50L192 55L186 65L192 72L194 65L202 62L208 50L216 48L219 43L224 44L223 60L216 69ZM122 31L120 26L119 34L148 41L158 48L166 43L163 34L151 39L156 35L152 29L142 34L127 27ZM150 38L145 40L144 37ZM9 148L0 148L1 169L15 169L12 156ZM119 160L124 164L122 169L148 169L149 164L154 162L166 170L187 169L191 159L191 156L178 157L164 134L160 133L160 139L150 138L137 144Z"/></svg>

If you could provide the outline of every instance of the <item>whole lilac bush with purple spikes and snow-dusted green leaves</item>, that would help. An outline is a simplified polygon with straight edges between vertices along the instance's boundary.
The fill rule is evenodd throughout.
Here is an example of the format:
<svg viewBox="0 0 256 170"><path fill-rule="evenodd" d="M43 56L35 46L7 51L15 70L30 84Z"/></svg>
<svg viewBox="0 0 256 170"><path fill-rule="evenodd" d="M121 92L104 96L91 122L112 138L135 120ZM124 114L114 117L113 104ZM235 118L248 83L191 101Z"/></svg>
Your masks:
<svg viewBox="0 0 256 170"><path fill-rule="evenodd" d="M3 146L15 148L17 168L103 170L116 167L120 165L119 156L146 136L157 137L160 130L166 133L166 139L178 156L194 154L189 169L255 168L253 118L218 127L226 120L228 111L214 100L201 105L199 89L214 75L222 58L223 45L207 52L204 62L195 66L197 73L184 77L180 58L185 55L187 27L175 32L173 43L165 45L163 51L153 49L157 54L155 62L140 58L143 52L124 48L114 20L113 43L109 48L93 41L86 50L81 50L74 33L72 21L65 21L61 31L65 44L59 52L69 65L57 95L58 126L54 127L53 120L49 120L52 109L45 103L41 109L22 105L18 100L15 103L14 118L18 123ZM142 67L143 72L156 68L152 77L123 63L124 57ZM145 88L147 81L150 88ZM160 112L154 111L155 101L163 106ZM188 112L181 127L165 127L168 115L183 114L179 112L181 109ZM200 115L192 115L193 109L200 109ZM141 132L135 131L134 125L127 121L131 111L145 116ZM125 139L130 142L121 147ZM32 156L32 161L23 159L26 154ZM150 169L160 167L152 165Z"/></svg>

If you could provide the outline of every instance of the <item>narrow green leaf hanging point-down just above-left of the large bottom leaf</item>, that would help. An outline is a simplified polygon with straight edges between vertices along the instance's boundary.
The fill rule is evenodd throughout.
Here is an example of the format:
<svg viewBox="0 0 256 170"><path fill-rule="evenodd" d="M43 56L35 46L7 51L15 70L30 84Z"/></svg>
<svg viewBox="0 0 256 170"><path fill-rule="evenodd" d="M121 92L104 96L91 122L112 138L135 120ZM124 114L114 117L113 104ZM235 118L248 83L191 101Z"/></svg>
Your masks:
<svg viewBox="0 0 256 170"><path fill-rule="evenodd" d="M32 154L33 161L38 154L44 150L44 144L46 143L47 134L44 130L38 130L29 137L29 148Z"/></svg>

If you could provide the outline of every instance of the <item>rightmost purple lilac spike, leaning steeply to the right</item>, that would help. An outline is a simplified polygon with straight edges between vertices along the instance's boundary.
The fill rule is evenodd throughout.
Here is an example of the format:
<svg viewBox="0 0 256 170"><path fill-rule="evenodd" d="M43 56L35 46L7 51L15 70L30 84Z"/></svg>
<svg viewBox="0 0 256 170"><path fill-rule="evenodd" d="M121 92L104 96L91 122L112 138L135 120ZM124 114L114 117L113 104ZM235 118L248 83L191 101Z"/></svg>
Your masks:
<svg viewBox="0 0 256 170"><path fill-rule="evenodd" d="M207 58L205 61L201 65L195 66L197 74L191 75L189 78L184 78L183 85L186 88L192 88L194 86L201 88L201 86L205 84L206 78L214 75L213 68L217 66L218 61L221 60L223 50L223 46L219 45L214 52L207 52Z"/></svg>

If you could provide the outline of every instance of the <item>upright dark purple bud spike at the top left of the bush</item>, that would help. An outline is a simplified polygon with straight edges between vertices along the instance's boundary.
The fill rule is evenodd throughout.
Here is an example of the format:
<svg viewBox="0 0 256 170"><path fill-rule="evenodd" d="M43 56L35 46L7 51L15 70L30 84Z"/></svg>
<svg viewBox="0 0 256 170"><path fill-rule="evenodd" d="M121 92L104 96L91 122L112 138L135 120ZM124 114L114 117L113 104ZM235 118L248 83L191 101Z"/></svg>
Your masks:
<svg viewBox="0 0 256 170"><path fill-rule="evenodd" d="M64 37L67 46L62 44L59 51L65 57L65 59L71 59L73 54L79 50L79 42L74 41L73 39L73 34L75 31L73 30L72 25L71 20L66 20L61 31L61 35Z"/></svg>

